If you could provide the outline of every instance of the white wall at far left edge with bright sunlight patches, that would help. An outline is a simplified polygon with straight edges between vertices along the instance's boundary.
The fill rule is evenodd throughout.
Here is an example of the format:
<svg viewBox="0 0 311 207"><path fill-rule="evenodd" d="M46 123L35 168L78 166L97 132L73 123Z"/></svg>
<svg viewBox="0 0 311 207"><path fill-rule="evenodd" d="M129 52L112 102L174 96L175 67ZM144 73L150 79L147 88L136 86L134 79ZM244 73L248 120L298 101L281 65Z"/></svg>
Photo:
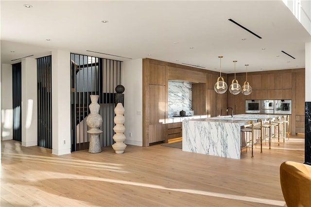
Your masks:
<svg viewBox="0 0 311 207"><path fill-rule="evenodd" d="M1 140L13 139L12 65L1 65Z"/></svg>

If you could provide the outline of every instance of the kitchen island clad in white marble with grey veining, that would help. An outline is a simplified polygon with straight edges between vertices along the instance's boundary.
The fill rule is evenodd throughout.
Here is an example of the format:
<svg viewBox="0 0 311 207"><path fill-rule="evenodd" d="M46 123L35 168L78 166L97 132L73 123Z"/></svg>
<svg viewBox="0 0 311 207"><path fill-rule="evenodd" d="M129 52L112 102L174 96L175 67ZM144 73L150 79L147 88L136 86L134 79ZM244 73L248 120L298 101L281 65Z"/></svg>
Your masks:
<svg viewBox="0 0 311 207"><path fill-rule="evenodd" d="M239 114L183 121L182 150L241 159L241 126L276 115Z"/></svg>

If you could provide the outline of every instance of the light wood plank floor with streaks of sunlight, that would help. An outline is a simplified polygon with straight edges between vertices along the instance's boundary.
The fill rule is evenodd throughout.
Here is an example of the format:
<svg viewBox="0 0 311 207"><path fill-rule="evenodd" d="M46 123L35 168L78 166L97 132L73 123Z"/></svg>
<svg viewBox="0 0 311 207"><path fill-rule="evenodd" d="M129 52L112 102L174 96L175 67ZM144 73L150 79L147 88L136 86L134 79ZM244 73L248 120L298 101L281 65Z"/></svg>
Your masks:
<svg viewBox="0 0 311 207"><path fill-rule="evenodd" d="M304 162L304 137L272 144L242 159L154 145L111 147L56 156L40 147L2 141L0 206L250 207L284 206L283 161Z"/></svg>

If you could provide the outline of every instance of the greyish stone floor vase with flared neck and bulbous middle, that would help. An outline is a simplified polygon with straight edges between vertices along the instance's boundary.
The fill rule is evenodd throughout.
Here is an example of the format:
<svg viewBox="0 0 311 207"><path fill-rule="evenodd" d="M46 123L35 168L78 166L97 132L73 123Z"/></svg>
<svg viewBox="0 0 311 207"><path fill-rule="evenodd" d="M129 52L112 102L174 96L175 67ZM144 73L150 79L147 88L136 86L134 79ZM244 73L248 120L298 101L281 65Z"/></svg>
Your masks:
<svg viewBox="0 0 311 207"><path fill-rule="evenodd" d="M101 143L99 140L99 134L103 131L99 127L103 123L102 116L99 114L100 104L98 104L98 95L90 95L91 104L89 104L90 114L86 118L86 124L89 127L87 133L90 135L89 138L89 153L100 153L102 152Z"/></svg>

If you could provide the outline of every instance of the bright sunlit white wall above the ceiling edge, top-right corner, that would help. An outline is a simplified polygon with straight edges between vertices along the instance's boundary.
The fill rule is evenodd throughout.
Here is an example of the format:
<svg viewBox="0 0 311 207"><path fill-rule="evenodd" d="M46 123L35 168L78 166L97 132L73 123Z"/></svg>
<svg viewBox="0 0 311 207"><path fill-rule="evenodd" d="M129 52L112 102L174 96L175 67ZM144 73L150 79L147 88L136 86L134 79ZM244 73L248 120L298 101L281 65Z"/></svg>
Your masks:
<svg viewBox="0 0 311 207"><path fill-rule="evenodd" d="M292 11L298 21L311 34L311 1L310 0L282 0Z"/></svg>

